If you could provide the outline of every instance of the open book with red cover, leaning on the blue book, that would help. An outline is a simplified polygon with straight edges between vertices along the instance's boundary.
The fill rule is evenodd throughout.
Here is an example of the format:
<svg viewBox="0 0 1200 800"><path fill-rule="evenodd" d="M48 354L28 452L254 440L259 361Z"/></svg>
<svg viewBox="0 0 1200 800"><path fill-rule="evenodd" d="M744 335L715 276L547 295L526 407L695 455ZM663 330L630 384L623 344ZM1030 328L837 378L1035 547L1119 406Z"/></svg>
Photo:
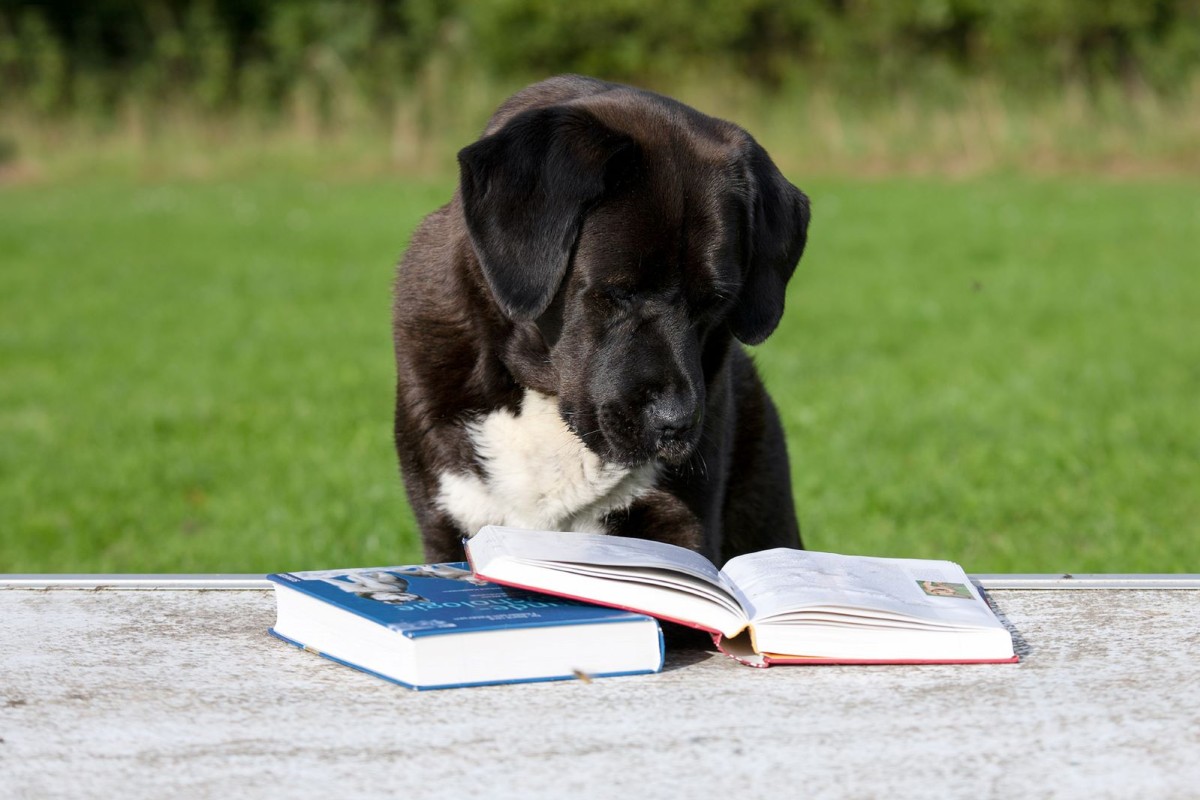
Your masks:
<svg viewBox="0 0 1200 800"><path fill-rule="evenodd" d="M950 561L779 548L718 570L673 545L496 525L466 547L481 578L703 628L752 666L1016 661Z"/></svg>

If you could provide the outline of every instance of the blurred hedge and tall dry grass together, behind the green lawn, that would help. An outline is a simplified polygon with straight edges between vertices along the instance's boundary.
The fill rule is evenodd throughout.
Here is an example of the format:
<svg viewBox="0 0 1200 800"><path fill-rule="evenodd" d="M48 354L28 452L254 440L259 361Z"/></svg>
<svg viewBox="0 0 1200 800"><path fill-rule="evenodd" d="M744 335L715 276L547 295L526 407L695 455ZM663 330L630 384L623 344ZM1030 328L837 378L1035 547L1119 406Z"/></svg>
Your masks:
<svg viewBox="0 0 1200 800"><path fill-rule="evenodd" d="M796 166L1200 168L1200 0L0 0L0 160L199 132L443 169L448 133L568 71L686 95Z"/></svg>

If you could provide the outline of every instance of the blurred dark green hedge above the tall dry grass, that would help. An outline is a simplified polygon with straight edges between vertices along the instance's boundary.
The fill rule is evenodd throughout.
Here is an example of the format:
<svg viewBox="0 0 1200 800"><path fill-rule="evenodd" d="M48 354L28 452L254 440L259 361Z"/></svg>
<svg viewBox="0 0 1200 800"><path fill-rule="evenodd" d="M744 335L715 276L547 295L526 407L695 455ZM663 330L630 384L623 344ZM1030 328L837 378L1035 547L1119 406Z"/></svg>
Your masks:
<svg viewBox="0 0 1200 800"><path fill-rule="evenodd" d="M299 90L386 113L431 70L1170 97L1200 72L1200 0L0 0L0 104L35 114L270 110Z"/></svg>

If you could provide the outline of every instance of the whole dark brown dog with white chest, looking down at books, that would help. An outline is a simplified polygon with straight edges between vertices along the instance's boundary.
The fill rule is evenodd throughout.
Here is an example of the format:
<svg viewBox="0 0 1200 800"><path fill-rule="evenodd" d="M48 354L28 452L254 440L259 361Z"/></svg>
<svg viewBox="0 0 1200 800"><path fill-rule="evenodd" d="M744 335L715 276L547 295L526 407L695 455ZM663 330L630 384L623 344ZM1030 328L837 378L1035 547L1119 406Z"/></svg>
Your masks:
<svg viewBox="0 0 1200 800"><path fill-rule="evenodd" d="M740 127L562 76L458 154L394 284L395 439L431 561L485 524L800 547L750 357L809 199Z"/></svg>

